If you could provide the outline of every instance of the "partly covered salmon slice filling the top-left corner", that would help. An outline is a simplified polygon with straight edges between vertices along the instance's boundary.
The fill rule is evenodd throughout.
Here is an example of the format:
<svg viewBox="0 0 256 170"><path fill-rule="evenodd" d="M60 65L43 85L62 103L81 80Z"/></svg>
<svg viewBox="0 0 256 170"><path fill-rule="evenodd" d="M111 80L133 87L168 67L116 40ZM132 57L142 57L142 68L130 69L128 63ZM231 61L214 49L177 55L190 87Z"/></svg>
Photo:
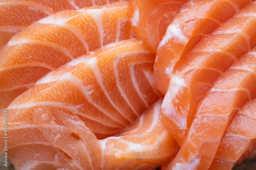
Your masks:
<svg viewBox="0 0 256 170"><path fill-rule="evenodd" d="M105 5L118 0L0 0L0 49L31 23L65 9Z"/></svg>

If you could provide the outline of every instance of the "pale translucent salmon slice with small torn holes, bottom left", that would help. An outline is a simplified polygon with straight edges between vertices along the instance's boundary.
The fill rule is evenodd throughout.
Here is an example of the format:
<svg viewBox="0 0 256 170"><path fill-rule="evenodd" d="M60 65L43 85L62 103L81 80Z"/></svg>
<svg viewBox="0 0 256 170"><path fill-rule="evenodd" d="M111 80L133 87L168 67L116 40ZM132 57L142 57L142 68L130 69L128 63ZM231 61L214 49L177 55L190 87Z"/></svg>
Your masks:
<svg viewBox="0 0 256 170"><path fill-rule="evenodd" d="M8 110L8 159L15 169L101 169L99 140L77 115L45 106L12 111ZM2 153L3 146L1 140Z"/></svg>

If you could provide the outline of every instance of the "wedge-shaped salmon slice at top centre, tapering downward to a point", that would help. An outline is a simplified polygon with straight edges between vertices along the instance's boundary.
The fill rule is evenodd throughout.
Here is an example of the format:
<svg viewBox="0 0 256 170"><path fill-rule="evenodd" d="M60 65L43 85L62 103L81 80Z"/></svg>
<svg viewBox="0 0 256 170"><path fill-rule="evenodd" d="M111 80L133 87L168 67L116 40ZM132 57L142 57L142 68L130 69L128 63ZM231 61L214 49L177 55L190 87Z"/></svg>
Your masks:
<svg viewBox="0 0 256 170"><path fill-rule="evenodd" d="M168 25L188 0L130 0L133 34L156 53Z"/></svg>

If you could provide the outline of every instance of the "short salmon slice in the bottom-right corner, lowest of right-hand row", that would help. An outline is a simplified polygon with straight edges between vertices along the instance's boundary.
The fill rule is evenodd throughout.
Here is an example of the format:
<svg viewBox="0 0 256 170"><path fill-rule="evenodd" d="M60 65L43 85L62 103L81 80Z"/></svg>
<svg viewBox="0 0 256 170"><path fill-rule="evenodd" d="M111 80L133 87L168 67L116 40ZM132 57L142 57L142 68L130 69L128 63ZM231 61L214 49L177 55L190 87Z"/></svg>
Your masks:
<svg viewBox="0 0 256 170"><path fill-rule="evenodd" d="M248 151L249 154L253 153L250 148L256 142L255 139L256 99L253 99L247 102L235 116L209 169L232 169L244 153L248 154Z"/></svg>

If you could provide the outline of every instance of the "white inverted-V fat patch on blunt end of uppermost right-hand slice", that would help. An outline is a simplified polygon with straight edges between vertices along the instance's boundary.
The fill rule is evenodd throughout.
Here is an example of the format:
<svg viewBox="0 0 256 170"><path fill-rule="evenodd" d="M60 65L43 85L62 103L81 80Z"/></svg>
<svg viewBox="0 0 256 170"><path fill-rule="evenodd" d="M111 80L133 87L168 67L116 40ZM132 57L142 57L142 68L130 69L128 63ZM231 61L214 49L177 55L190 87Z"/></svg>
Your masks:
<svg viewBox="0 0 256 170"><path fill-rule="evenodd" d="M170 24L158 46L164 46L173 37L177 38L183 45L186 45L189 40L188 37L186 37L185 34L182 32L180 25Z"/></svg>

